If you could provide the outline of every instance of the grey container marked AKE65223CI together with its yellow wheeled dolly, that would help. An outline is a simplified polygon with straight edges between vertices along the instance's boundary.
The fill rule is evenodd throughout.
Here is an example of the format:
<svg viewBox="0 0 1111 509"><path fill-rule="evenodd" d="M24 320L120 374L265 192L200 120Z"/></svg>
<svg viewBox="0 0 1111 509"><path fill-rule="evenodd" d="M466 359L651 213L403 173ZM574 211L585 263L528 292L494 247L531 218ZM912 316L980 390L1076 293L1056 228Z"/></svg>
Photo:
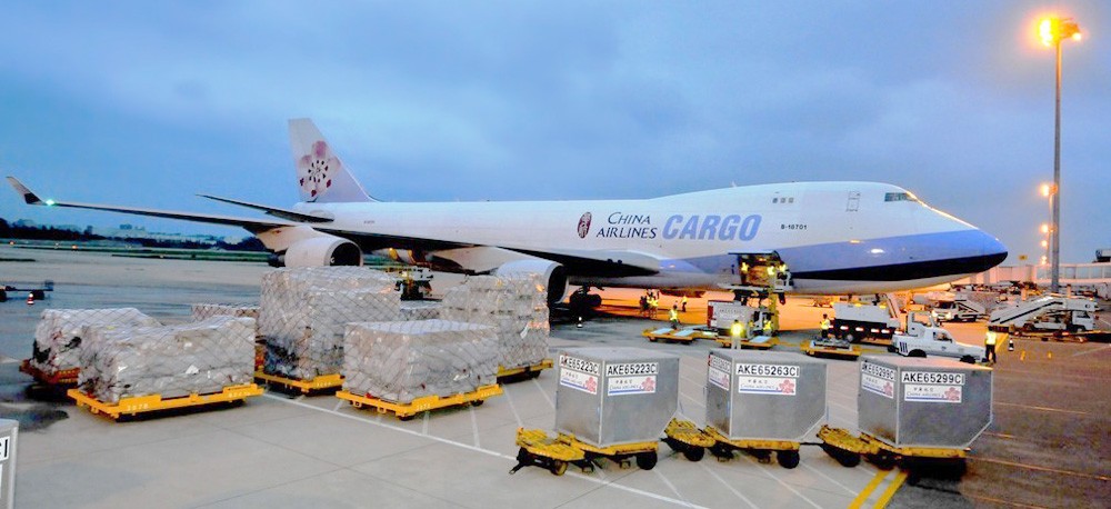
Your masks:
<svg viewBox="0 0 1111 509"><path fill-rule="evenodd" d="M562 476L569 465L593 471L655 467L659 437L679 408L679 357L641 348L578 348L559 355L556 435L517 430L518 470L537 466Z"/></svg>

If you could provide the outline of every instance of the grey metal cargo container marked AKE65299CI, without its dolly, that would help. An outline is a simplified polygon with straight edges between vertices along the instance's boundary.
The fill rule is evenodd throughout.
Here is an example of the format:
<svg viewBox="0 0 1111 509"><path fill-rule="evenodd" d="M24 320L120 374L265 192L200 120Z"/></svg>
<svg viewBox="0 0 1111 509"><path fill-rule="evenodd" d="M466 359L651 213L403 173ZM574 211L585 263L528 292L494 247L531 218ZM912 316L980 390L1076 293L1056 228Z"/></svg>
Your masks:
<svg viewBox="0 0 1111 509"><path fill-rule="evenodd" d="M950 359L862 357L860 431L894 447L967 448L992 420L991 372Z"/></svg>

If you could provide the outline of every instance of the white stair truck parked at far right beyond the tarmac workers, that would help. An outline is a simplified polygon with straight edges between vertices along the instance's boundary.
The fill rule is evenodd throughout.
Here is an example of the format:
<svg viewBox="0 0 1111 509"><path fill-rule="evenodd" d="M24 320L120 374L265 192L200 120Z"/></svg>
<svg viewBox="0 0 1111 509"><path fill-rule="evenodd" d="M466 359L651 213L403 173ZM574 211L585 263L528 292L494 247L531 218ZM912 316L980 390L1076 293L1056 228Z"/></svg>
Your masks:
<svg viewBox="0 0 1111 509"><path fill-rule="evenodd" d="M1065 331L1095 330L1098 306L1092 299L1043 296L1015 306L997 309L988 327L994 330Z"/></svg>

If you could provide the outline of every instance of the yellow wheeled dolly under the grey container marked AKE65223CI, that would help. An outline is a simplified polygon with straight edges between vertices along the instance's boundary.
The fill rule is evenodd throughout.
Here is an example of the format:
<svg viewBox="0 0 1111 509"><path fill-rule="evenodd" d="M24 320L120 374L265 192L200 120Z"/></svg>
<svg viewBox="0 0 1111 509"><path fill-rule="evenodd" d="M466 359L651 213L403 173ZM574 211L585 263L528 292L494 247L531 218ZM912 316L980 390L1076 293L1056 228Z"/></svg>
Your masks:
<svg viewBox="0 0 1111 509"><path fill-rule="evenodd" d="M547 469L556 476L562 476L567 471L568 465L574 465L583 472L594 470L594 461L608 458L615 461L621 468L628 468L630 459L637 461L637 466L643 470L651 470L659 459L657 451L658 441L622 443L610 447L595 447L583 442L573 435L557 433L549 437L541 429L517 429L517 466L509 473L517 473L518 470L536 465Z"/></svg>

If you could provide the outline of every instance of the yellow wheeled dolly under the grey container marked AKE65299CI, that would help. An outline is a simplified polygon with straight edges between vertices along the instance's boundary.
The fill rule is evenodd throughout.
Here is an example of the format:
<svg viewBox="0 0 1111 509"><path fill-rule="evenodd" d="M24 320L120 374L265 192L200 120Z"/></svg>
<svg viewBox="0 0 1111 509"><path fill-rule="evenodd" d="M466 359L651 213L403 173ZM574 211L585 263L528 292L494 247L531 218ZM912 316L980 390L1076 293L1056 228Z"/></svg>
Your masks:
<svg viewBox="0 0 1111 509"><path fill-rule="evenodd" d="M841 428L831 428L829 425L822 426L818 431L818 438L822 440L822 450L845 467L860 465L861 457L868 458L884 470L903 460L932 460L951 462L959 469L959 473L964 473L964 459L968 457L968 449L894 447L871 435L860 433L858 437Z"/></svg>

